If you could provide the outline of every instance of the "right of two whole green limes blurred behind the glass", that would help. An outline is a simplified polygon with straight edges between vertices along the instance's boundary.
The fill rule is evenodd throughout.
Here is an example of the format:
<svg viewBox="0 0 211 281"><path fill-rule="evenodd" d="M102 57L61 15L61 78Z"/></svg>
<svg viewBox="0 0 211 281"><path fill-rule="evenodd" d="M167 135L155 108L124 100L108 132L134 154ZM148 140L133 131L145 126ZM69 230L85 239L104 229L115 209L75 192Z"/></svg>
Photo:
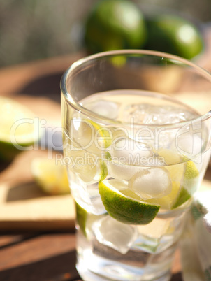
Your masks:
<svg viewBox="0 0 211 281"><path fill-rule="evenodd" d="M177 15L155 15L147 20L147 49L168 52L186 59L203 50L203 38L198 28Z"/></svg>

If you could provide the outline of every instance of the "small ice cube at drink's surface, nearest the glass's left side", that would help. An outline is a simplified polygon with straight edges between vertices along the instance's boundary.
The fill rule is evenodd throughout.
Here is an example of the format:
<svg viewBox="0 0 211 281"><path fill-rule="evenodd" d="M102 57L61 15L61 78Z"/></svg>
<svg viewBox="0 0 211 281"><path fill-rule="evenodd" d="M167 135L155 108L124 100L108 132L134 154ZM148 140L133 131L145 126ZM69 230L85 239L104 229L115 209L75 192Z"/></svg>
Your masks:
<svg viewBox="0 0 211 281"><path fill-rule="evenodd" d="M101 99L86 103L85 107L89 110L92 110L94 113L108 117L110 119L116 119L118 116L119 104L112 101Z"/></svg>

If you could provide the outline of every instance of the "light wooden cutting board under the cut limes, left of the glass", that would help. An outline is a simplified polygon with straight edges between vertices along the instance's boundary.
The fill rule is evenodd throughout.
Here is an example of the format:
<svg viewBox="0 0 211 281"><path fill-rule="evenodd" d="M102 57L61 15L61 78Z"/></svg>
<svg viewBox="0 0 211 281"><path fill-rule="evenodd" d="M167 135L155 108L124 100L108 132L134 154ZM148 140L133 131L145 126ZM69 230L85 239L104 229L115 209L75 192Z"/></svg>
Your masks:
<svg viewBox="0 0 211 281"><path fill-rule="evenodd" d="M60 105L47 98L16 96L46 126L61 124ZM58 152L59 153L59 152ZM70 194L51 196L43 193L31 174L31 161L47 157L47 150L21 152L0 173L0 231L73 229L75 206Z"/></svg>

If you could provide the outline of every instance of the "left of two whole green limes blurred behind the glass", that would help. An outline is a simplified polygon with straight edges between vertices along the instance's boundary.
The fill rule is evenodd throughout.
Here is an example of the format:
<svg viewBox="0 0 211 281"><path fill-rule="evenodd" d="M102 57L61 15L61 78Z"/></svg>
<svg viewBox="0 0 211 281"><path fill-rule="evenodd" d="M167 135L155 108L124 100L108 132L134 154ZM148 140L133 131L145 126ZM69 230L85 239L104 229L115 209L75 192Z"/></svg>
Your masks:
<svg viewBox="0 0 211 281"><path fill-rule="evenodd" d="M145 38L143 14L131 1L99 1L85 24L85 44L93 53L141 48Z"/></svg>

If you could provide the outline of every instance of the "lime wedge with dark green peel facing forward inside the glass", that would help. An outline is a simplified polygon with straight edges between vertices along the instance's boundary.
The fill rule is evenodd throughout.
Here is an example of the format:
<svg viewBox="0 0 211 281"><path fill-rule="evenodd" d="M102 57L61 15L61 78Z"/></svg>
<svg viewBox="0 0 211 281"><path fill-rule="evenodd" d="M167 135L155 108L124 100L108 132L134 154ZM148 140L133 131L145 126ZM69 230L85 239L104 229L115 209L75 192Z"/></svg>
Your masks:
<svg viewBox="0 0 211 281"><path fill-rule="evenodd" d="M108 214L125 224L149 224L156 217L160 206L127 197L112 187L108 180L99 182L99 193ZM133 192L131 193L133 195Z"/></svg>

